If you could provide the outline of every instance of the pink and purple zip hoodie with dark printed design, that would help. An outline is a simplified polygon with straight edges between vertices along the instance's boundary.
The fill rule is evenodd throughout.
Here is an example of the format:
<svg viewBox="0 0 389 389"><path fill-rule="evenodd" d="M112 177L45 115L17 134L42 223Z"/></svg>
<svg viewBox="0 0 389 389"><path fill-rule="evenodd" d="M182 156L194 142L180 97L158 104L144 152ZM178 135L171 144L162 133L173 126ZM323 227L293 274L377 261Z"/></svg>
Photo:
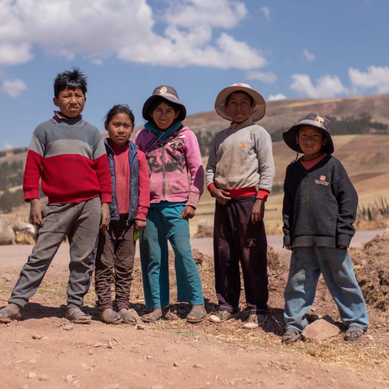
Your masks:
<svg viewBox="0 0 389 389"><path fill-rule="evenodd" d="M150 204L186 201L186 205L196 208L204 189L204 168L193 131L182 127L162 141L143 128L135 136L134 143L146 154Z"/></svg>

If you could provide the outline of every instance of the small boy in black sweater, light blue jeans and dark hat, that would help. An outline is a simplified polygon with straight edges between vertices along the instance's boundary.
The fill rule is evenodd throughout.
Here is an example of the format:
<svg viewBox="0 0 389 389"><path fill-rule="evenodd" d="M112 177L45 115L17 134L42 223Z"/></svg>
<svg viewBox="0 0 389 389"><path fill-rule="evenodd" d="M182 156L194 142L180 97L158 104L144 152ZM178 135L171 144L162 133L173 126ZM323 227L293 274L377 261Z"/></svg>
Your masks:
<svg viewBox="0 0 389 389"><path fill-rule="evenodd" d="M345 340L357 340L369 325L362 292L347 252L354 236L358 196L345 169L331 154L330 122L306 115L283 133L285 143L304 155L286 168L283 243L292 250L284 299L284 343L296 341L323 274L339 315Z"/></svg>

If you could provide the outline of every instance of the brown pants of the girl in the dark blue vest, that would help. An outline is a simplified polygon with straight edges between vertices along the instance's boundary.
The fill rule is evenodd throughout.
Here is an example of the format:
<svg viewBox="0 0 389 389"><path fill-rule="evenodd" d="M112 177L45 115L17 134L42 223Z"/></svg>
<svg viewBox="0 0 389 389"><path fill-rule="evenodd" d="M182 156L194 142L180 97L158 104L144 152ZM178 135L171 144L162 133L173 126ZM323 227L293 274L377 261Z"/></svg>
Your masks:
<svg viewBox="0 0 389 389"><path fill-rule="evenodd" d="M111 221L109 230L99 234L95 265L95 291L97 309L113 309L112 281L115 284L115 303L119 311L128 309L132 270L134 268L134 223L126 226L125 220Z"/></svg>

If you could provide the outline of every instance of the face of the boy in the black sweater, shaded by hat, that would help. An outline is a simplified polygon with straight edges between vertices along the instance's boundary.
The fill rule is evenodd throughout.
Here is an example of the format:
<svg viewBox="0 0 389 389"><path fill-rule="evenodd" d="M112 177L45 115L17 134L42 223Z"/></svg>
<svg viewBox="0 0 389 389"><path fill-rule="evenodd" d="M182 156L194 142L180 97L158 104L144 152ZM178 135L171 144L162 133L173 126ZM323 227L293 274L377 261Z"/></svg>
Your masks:
<svg viewBox="0 0 389 389"><path fill-rule="evenodd" d="M304 161L311 161L323 155L321 147L327 144L327 138L322 131L312 125L302 125L296 141L304 153Z"/></svg>

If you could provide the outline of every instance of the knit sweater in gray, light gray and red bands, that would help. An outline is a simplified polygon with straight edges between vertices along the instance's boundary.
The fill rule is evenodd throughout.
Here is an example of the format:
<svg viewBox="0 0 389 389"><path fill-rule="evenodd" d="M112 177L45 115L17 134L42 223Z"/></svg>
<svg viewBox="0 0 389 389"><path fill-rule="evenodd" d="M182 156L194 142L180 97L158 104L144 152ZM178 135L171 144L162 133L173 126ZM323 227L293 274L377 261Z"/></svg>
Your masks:
<svg viewBox="0 0 389 389"><path fill-rule="evenodd" d="M25 201L39 197L39 178L49 203L75 203L100 195L111 202L111 177L100 131L82 119L54 116L33 133L23 176Z"/></svg>

